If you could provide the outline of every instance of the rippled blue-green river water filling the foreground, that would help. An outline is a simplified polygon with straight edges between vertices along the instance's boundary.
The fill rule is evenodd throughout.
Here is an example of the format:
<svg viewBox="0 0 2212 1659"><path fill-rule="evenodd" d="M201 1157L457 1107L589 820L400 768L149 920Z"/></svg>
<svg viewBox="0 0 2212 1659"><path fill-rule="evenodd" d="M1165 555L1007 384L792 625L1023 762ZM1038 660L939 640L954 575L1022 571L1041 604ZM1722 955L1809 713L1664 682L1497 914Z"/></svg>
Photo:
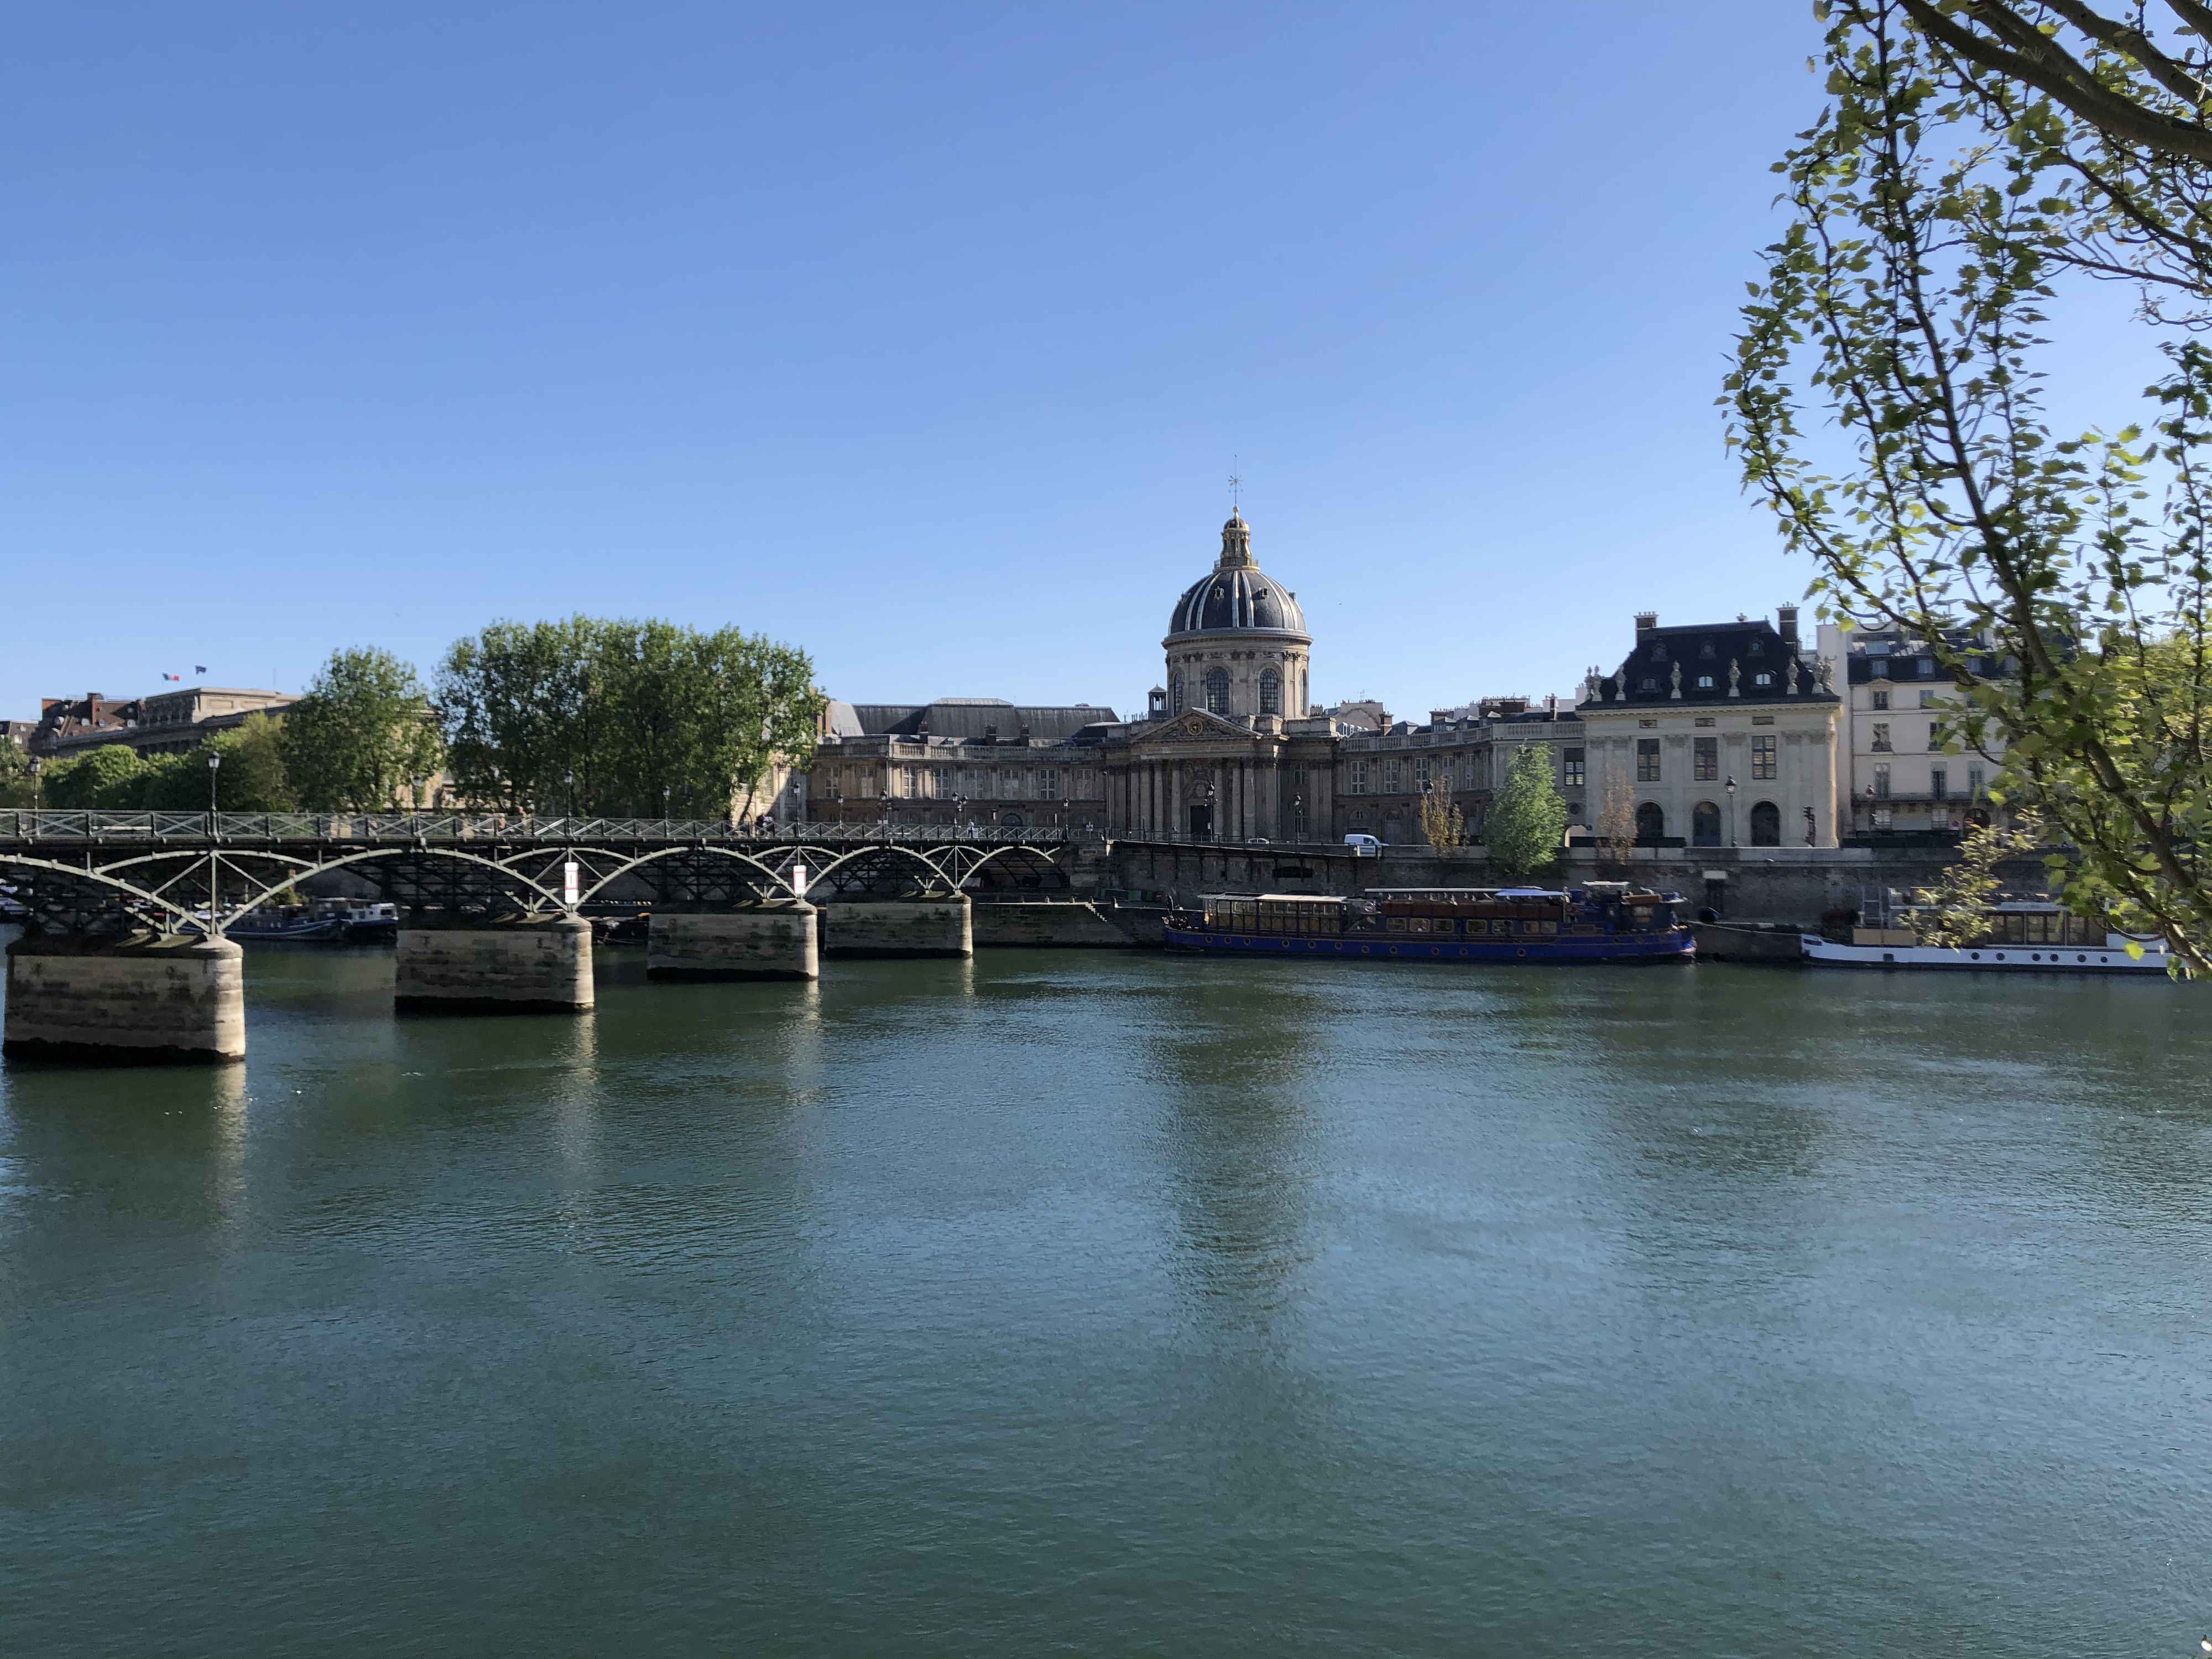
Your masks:
<svg viewBox="0 0 2212 1659"><path fill-rule="evenodd" d="M2194 1655L2166 982L993 951L0 1075L0 1652Z"/></svg>

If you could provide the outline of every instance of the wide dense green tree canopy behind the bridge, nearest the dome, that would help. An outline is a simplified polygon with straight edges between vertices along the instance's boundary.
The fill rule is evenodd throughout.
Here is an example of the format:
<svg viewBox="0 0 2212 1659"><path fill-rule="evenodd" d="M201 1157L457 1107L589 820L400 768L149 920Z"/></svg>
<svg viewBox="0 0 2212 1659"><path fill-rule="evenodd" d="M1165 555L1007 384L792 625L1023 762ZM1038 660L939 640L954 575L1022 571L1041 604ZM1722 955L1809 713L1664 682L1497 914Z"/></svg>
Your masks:
<svg viewBox="0 0 2212 1659"><path fill-rule="evenodd" d="M761 635L568 617L456 641L438 703L465 801L726 818L812 757L823 697L805 653Z"/></svg>

